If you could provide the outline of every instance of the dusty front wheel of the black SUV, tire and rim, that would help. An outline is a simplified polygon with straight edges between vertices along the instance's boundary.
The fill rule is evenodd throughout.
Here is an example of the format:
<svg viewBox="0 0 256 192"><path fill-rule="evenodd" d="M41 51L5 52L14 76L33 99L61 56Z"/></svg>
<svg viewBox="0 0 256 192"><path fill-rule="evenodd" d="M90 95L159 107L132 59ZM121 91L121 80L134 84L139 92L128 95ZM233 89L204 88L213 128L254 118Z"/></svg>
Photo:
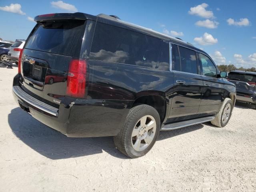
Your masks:
<svg viewBox="0 0 256 192"><path fill-rule="evenodd" d="M226 98L220 108L220 111L215 115L214 120L211 123L217 127L224 127L228 124L232 113L232 101L230 98ZM228 114L229 111L229 114Z"/></svg>

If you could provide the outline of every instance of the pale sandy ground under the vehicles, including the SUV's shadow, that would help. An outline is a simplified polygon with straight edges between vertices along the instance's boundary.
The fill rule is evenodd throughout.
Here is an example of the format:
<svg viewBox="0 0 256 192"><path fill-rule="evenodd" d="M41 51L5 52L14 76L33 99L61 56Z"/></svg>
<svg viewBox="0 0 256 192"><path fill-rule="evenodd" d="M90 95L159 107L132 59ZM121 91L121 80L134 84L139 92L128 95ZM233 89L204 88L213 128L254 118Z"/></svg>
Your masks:
<svg viewBox="0 0 256 192"><path fill-rule="evenodd" d="M225 128L209 123L160 132L128 159L112 137L67 138L12 98L17 68L0 68L0 191L256 191L256 110L237 105Z"/></svg>

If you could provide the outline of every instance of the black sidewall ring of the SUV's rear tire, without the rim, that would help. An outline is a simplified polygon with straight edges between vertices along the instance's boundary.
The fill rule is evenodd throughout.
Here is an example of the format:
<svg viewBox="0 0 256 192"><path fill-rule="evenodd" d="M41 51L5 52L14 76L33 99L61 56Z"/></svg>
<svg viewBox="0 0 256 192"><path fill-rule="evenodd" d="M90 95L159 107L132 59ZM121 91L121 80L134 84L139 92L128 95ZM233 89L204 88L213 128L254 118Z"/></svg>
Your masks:
<svg viewBox="0 0 256 192"><path fill-rule="evenodd" d="M151 115L152 117L154 117L154 119L156 120L156 134L154 136L154 139L152 140L152 142L150 143L150 145L142 151L136 151L134 150L134 148L132 147L132 131L134 129L134 126L137 124L137 122L140 120L140 118L142 118L143 116L146 115ZM154 143L156 142L156 139L158 138L159 135L159 131L160 131L160 126L161 126L161 122L160 122L160 117L158 112L154 109L154 108L147 108L142 110L141 112L139 112L130 122L128 130L127 130L127 134L126 134L126 138L125 138L125 147L126 147L126 151L128 150L128 152L134 157L140 157L140 156L144 156L147 152L150 151L150 149L154 146Z"/></svg>

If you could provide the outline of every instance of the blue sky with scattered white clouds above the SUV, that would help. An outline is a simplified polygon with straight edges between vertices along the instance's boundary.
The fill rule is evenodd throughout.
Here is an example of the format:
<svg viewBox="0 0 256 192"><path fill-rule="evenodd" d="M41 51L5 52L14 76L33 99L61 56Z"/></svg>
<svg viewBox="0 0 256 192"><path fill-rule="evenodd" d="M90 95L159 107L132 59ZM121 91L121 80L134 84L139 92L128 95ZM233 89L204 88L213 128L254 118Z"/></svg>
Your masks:
<svg viewBox="0 0 256 192"><path fill-rule="evenodd" d="M40 14L114 14L180 37L206 51L217 64L247 68L256 67L255 10L255 0L1 0L0 37L26 39L35 25L31 18Z"/></svg>

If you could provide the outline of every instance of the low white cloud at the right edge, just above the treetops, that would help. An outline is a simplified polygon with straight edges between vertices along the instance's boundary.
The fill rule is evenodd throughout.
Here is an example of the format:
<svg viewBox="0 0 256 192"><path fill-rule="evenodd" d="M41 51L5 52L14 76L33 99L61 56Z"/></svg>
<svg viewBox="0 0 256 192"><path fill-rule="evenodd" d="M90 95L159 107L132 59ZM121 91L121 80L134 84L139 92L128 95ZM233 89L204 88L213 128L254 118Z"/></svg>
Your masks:
<svg viewBox="0 0 256 192"><path fill-rule="evenodd" d="M241 54L234 54L234 59L236 67L256 67L256 53L250 54L246 59Z"/></svg>

